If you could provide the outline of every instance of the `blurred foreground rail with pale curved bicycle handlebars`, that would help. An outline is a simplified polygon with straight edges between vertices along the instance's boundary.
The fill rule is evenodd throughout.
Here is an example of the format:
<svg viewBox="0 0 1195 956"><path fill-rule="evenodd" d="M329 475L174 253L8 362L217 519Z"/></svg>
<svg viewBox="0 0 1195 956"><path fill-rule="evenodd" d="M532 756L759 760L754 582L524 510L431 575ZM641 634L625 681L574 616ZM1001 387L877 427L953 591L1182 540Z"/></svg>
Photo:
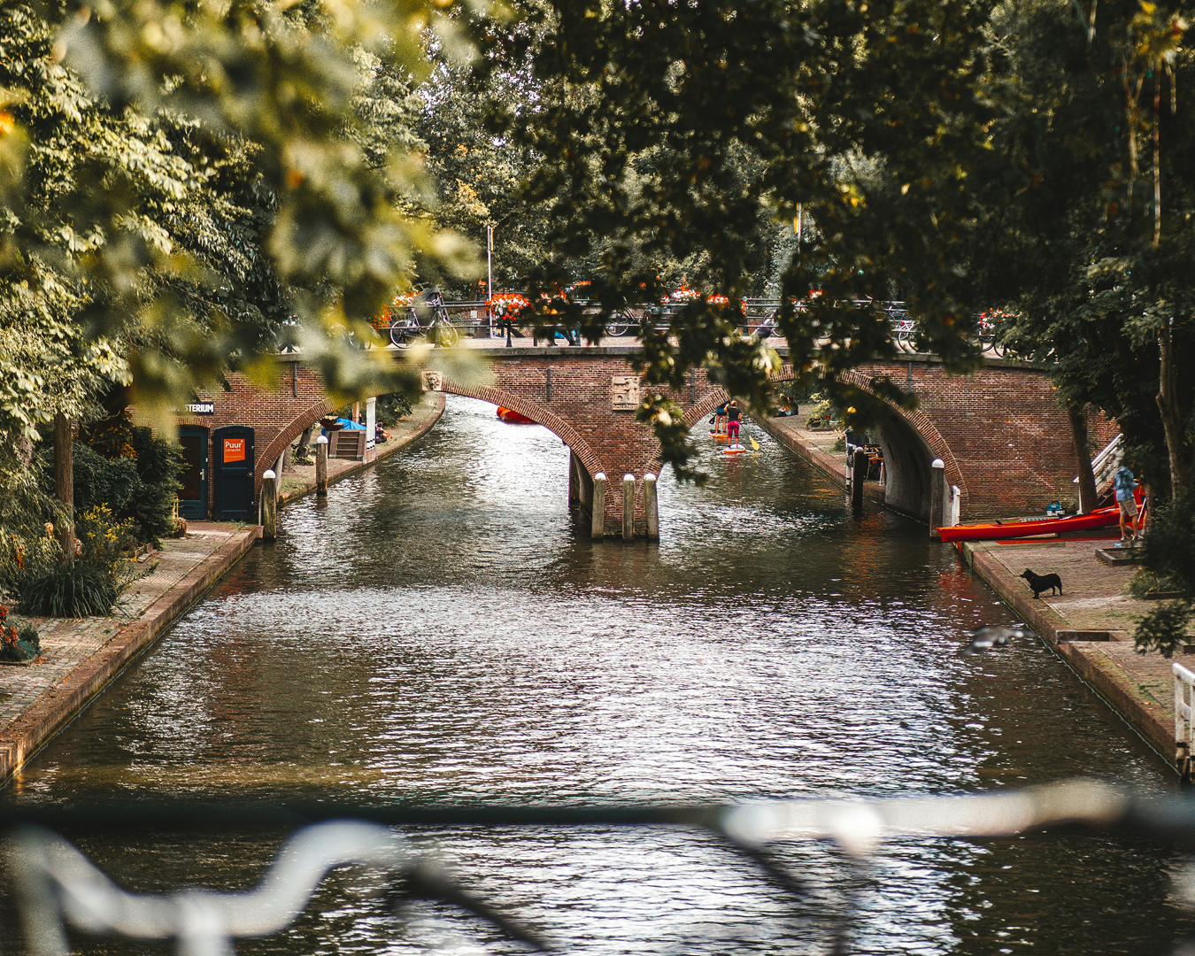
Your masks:
<svg viewBox="0 0 1195 956"><path fill-rule="evenodd" d="M976 639L981 637L976 635ZM986 638L985 638L986 639ZM997 642L999 643L999 642ZM1176 674L1178 666L1176 666ZM1183 668L1188 679L1195 679ZM1187 681L1189 686L1189 680ZM1188 698L1189 700L1189 698ZM1190 705L1185 711L1190 731ZM633 807L376 807L338 803L90 803L80 809L10 805L10 885L19 895L31 956L67 956L68 931L173 940L180 956L231 956L234 940L281 932L302 913L330 870L362 864L376 872L375 895L392 907L434 899L460 907L537 949L556 949L515 917L500 912L446 875L425 848L396 827L686 827L715 834L753 862L760 877L796 908L809 884L788 871L772 847L828 841L842 865L864 864L885 840L908 836L983 840L1060 828L1141 834L1169 844L1195 841L1195 801L1145 798L1093 780L964 796L885 799L796 799L748 804ZM160 895L121 889L59 835L155 831L261 833L307 823L281 848L252 890L183 889ZM850 906L822 903L828 951L850 950Z"/></svg>

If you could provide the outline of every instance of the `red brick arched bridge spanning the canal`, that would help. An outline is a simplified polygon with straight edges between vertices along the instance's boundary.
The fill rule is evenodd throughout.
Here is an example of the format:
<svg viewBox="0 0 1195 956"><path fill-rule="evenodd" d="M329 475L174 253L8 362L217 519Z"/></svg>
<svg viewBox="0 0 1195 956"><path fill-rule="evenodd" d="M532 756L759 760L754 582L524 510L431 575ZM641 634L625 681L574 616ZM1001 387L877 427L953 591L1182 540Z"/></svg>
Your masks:
<svg viewBox="0 0 1195 956"><path fill-rule="evenodd" d="M633 413L637 379L627 366L635 345L477 349L490 367L486 385L462 385L435 373L440 391L513 409L554 433L570 449L569 497L593 520L594 537L623 532L623 478L636 480L636 535L646 533L643 479L658 474L658 445ZM782 350L783 354L783 350ZM249 424L256 433L255 497L262 474L302 431L332 412L317 373L300 356L280 357L278 388L261 391L237 375L228 390L200 396L214 406L208 415L179 418L190 431ZM872 378L889 375L920 398L913 413L884 416L875 440L887 462L885 504L929 519L933 459L945 464L946 483L961 496L962 520L1034 514L1052 501L1073 500L1076 459L1067 416L1058 406L1048 376L1037 368L987 360L973 375L948 376L927 356L874 364L847 373L868 390ZM779 376L791 378L786 367ZM692 425L725 399L704 370L672 396ZM1115 428L1092 422L1093 443ZM608 476L605 513L593 515L594 479Z"/></svg>

